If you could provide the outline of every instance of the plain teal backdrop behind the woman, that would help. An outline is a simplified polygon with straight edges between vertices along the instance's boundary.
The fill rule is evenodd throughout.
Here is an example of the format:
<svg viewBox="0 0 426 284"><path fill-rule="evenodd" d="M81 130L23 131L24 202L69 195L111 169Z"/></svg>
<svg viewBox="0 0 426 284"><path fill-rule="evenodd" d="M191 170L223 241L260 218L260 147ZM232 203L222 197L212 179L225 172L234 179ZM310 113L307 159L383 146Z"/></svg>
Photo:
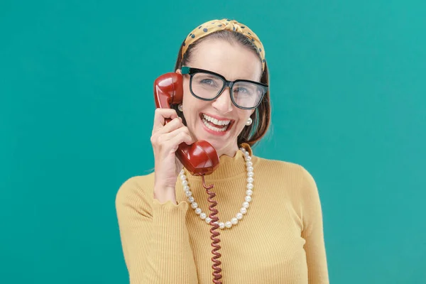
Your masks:
<svg viewBox="0 0 426 284"><path fill-rule="evenodd" d="M426 283L425 1L1 1L0 283L128 283L114 198L153 168L155 77L236 18L263 41L254 148L320 190L331 283Z"/></svg>

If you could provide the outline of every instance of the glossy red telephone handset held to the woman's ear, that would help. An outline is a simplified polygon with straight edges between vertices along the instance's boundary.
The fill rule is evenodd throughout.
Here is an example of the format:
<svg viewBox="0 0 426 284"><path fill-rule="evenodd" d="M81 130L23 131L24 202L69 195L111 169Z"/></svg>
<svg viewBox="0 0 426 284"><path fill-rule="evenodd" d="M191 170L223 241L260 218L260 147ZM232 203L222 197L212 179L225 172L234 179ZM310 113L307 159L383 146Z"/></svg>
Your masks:
<svg viewBox="0 0 426 284"><path fill-rule="evenodd" d="M154 82L155 104L170 109L170 104L180 104L183 98L182 75L166 73ZM170 122L166 119L165 123ZM181 143L176 157L192 175L210 175L219 165L219 156L207 141L197 141L192 145Z"/></svg>

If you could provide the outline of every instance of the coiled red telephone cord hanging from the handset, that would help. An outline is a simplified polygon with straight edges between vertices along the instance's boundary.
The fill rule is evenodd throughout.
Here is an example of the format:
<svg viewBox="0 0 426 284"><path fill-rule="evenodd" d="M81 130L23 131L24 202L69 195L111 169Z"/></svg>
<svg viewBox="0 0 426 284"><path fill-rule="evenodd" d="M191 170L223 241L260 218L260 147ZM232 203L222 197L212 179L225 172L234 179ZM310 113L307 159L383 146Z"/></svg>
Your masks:
<svg viewBox="0 0 426 284"><path fill-rule="evenodd" d="M214 185L209 185L207 186L204 182L204 175L201 176L202 178L202 186L206 189L207 195L209 195L209 198L207 198L207 200L209 201L210 205L209 205L209 210L210 210L210 214L209 217L212 219L212 221L210 221L210 226L212 226L212 228L210 229L210 234L212 234L210 236L210 239L212 240L212 254L214 255L212 257L212 261L213 261L213 283L214 284L222 284L222 268L220 268L221 262L219 261L218 258L221 257L221 254L219 253L219 242L220 239L217 237L220 235L219 231L217 231L217 229L219 229L219 225L217 224L219 222L219 218L216 216L217 215L217 209L215 209L214 207L216 207L217 202L215 200L213 200L213 198L216 196L216 194L212 191L210 191Z"/></svg>

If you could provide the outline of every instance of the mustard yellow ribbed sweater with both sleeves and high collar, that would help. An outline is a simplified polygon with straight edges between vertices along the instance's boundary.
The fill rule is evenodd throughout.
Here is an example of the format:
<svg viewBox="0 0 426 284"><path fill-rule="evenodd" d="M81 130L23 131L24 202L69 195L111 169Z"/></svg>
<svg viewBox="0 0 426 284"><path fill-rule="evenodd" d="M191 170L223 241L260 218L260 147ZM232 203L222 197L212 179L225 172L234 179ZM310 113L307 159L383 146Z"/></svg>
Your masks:
<svg viewBox="0 0 426 284"><path fill-rule="evenodd" d="M248 145L244 147L249 151ZM329 283L322 209L315 181L302 166L252 157L253 200L244 218L219 229L222 282ZM209 214L200 177L187 174L199 207ZM206 177L214 184L219 219L231 220L246 196L246 165L238 151L222 155ZM154 173L126 180L116 196L131 284L212 283L210 225L190 207L180 179L176 200L153 199Z"/></svg>

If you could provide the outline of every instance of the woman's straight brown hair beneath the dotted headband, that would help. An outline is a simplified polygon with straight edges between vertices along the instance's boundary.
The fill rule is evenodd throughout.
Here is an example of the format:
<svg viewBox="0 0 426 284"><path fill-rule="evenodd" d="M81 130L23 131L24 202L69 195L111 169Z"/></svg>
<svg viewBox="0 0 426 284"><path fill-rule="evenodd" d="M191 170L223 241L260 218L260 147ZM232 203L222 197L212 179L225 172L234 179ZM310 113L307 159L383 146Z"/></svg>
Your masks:
<svg viewBox="0 0 426 284"><path fill-rule="evenodd" d="M180 45L180 50L178 54L178 60L176 60L175 70L180 69L182 66L187 65L190 62L192 53L196 50L197 46L200 45L204 40L207 39L220 39L226 40L229 43L238 43L244 48L249 48L253 53L258 55L258 50L256 45L251 43L251 40L247 38L245 35L241 33L237 33L235 31L216 31L209 35L200 38L199 40L192 43L182 58L182 45ZM259 56L259 60L261 60ZM261 76L261 83L269 85L269 75L268 75L268 65L265 62L265 69L263 70ZM182 122L186 125L185 117L182 112L178 111L177 105L172 105L173 109L175 109L178 115L182 118ZM269 99L269 89L268 92L263 96L261 104L256 108L256 110L251 114L251 119L253 119L253 123L250 126L244 127L243 131L238 136L237 143L240 146L241 143L248 143L250 146L253 146L257 143L268 131L269 124L271 124L271 102Z"/></svg>

